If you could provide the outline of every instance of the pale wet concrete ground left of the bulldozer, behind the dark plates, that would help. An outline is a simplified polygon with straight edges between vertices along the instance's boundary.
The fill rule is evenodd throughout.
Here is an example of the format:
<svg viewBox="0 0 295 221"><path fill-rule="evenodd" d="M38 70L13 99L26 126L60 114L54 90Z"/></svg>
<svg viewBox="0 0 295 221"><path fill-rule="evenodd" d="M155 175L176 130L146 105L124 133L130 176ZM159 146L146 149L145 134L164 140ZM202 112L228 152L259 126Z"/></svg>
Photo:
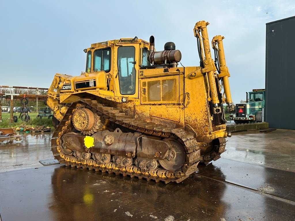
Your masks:
<svg viewBox="0 0 295 221"><path fill-rule="evenodd" d="M52 133L22 133L22 141L0 143L0 172L40 167L39 160L52 159Z"/></svg>

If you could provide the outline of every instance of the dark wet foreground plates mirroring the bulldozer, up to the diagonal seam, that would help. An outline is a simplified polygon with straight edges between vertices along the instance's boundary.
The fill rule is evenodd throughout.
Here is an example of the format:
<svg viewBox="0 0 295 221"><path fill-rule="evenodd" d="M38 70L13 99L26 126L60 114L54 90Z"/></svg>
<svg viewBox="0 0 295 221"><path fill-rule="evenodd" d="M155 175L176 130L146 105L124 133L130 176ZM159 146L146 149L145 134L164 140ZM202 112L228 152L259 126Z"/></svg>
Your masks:
<svg viewBox="0 0 295 221"><path fill-rule="evenodd" d="M5 221L294 220L294 204L197 173L165 185L54 165L0 179Z"/></svg>

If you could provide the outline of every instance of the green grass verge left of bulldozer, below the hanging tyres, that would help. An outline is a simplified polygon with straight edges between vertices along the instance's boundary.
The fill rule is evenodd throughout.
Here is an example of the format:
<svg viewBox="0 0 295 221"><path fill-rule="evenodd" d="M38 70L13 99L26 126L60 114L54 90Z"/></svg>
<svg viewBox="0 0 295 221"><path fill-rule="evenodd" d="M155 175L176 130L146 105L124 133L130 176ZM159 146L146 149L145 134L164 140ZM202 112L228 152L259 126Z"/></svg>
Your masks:
<svg viewBox="0 0 295 221"><path fill-rule="evenodd" d="M42 117L41 119L37 119L37 115L38 115L37 112L29 113L29 116L31 119L28 122L22 121L19 118L19 114L20 113L14 113L14 115L17 116L18 120L17 120L17 122L15 122L15 123L13 122L10 125L10 119L9 119L10 113L2 112L2 122L0 122L0 128L21 127L24 124L29 127L45 126L45 127L53 128L51 118L48 119L47 117Z"/></svg>

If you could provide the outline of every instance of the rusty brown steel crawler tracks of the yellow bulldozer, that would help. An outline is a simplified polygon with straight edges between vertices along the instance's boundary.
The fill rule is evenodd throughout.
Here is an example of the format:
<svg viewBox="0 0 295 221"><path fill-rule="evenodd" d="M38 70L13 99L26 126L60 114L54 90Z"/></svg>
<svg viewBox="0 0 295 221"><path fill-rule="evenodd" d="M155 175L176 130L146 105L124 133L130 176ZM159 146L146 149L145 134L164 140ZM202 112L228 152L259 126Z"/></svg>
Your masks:
<svg viewBox="0 0 295 221"><path fill-rule="evenodd" d="M99 116L115 123L115 125L128 128L134 133L141 133L160 138L171 138L178 141L183 146L186 154L184 166L178 171L167 171L162 168L156 168L154 170L141 169L140 167L135 166L134 162L131 166L118 166L113 162L103 163L95 161L94 159L83 160L78 159L76 156L65 154L62 151L61 137L65 133L72 131L72 115L78 108L82 107L89 108ZM51 151L53 152L53 156L61 164L65 164L66 166L76 166L77 168L82 167L83 169L88 168L89 170L94 169L95 171L115 173L116 175L129 175L131 178L145 178L148 181L153 179L155 182L163 181L165 183L179 183L183 181L189 177L190 174L198 170L197 166L200 161L208 163L211 160L216 160L220 158L220 154L225 151L225 139L220 140L220 146L218 147L217 152L213 151L206 156L200 155L200 145L204 145L204 143L196 141L194 134L186 131L184 128L173 128L171 126L144 120L139 121L131 115L121 113L117 108L100 104L96 100L91 99L80 99L79 101L72 103L51 138Z"/></svg>

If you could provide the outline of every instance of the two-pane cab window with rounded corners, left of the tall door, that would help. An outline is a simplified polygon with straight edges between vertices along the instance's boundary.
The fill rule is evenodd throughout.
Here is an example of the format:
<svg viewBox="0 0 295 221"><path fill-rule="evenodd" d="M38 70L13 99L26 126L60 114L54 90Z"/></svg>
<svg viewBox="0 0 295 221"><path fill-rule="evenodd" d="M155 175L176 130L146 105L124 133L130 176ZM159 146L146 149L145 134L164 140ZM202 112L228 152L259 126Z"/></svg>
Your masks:
<svg viewBox="0 0 295 221"><path fill-rule="evenodd" d="M100 49L94 51L93 70L94 71L110 71L110 49Z"/></svg>

